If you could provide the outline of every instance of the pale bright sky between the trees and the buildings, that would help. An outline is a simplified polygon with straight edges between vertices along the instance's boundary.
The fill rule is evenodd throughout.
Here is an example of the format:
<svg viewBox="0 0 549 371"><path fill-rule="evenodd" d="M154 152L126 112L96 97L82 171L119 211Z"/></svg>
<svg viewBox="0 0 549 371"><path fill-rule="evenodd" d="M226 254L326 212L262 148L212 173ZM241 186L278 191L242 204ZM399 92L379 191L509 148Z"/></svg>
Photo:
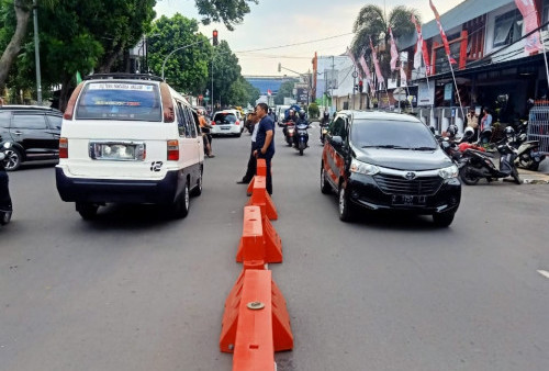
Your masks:
<svg viewBox="0 0 549 371"><path fill-rule="evenodd" d="M444 14L462 1L433 0L433 3ZM360 9L370 3L384 7L388 13L402 4L415 8L423 23L435 18L428 0L259 0L258 4L249 3L250 12L234 31L223 23L212 23L200 24L200 32L211 37L216 29L220 41L225 40L238 57L244 76L296 76L312 68L315 52L318 56L345 53L351 44L352 24ZM194 0L157 0L155 11L157 16L180 13L200 20ZM301 43L306 44L289 46Z"/></svg>

